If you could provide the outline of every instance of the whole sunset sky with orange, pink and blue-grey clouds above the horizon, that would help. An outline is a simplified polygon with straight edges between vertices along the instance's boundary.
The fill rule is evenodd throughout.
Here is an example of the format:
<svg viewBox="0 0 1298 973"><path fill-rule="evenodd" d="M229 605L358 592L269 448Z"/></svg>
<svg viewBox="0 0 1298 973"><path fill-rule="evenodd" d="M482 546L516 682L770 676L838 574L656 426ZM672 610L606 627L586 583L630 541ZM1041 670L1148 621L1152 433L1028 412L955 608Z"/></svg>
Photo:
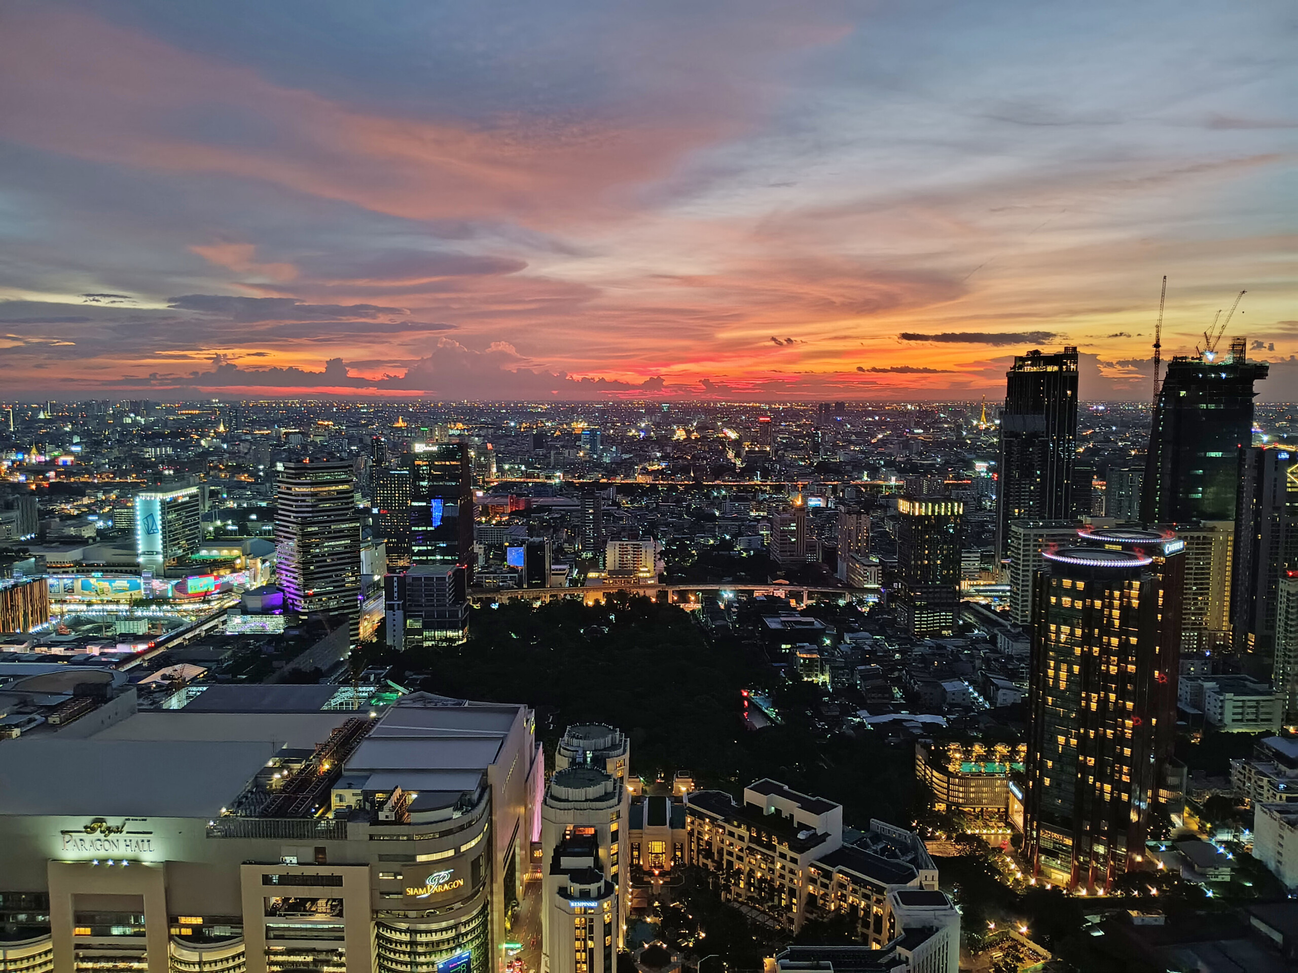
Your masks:
<svg viewBox="0 0 1298 973"><path fill-rule="evenodd" d="M1298 400L1280 0L6 0L0 396Z"/></svg>

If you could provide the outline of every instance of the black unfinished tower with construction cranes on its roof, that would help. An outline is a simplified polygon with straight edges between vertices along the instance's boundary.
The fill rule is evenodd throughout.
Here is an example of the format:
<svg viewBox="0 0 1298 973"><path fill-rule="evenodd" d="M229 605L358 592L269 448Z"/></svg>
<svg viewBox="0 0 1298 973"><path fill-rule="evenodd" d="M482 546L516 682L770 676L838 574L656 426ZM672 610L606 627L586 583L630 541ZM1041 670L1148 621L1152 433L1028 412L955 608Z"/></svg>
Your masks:
<svg viewBox="0 0 1298 973"><path fill-rule="evenodd" d="M1245 341L1223 361L1177 357L1154 407L1145 453L1141 520L1234 520L1240 450L1253 442L1253 383L1267 366L1245 361Z"/></svg>

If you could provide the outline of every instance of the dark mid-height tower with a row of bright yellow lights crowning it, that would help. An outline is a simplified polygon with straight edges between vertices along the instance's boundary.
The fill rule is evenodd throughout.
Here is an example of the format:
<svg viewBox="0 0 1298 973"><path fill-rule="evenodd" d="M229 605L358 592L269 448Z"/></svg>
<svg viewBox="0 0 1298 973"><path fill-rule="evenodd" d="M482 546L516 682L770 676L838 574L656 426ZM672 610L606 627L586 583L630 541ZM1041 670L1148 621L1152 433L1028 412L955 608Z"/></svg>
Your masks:
<svg viewBox="0 0 1298 973"><path fill-rule="evenodd" d="M896 599L915 636L955 631L959 607L964 505L961 501L902 497L897 501Z"/></svg>

